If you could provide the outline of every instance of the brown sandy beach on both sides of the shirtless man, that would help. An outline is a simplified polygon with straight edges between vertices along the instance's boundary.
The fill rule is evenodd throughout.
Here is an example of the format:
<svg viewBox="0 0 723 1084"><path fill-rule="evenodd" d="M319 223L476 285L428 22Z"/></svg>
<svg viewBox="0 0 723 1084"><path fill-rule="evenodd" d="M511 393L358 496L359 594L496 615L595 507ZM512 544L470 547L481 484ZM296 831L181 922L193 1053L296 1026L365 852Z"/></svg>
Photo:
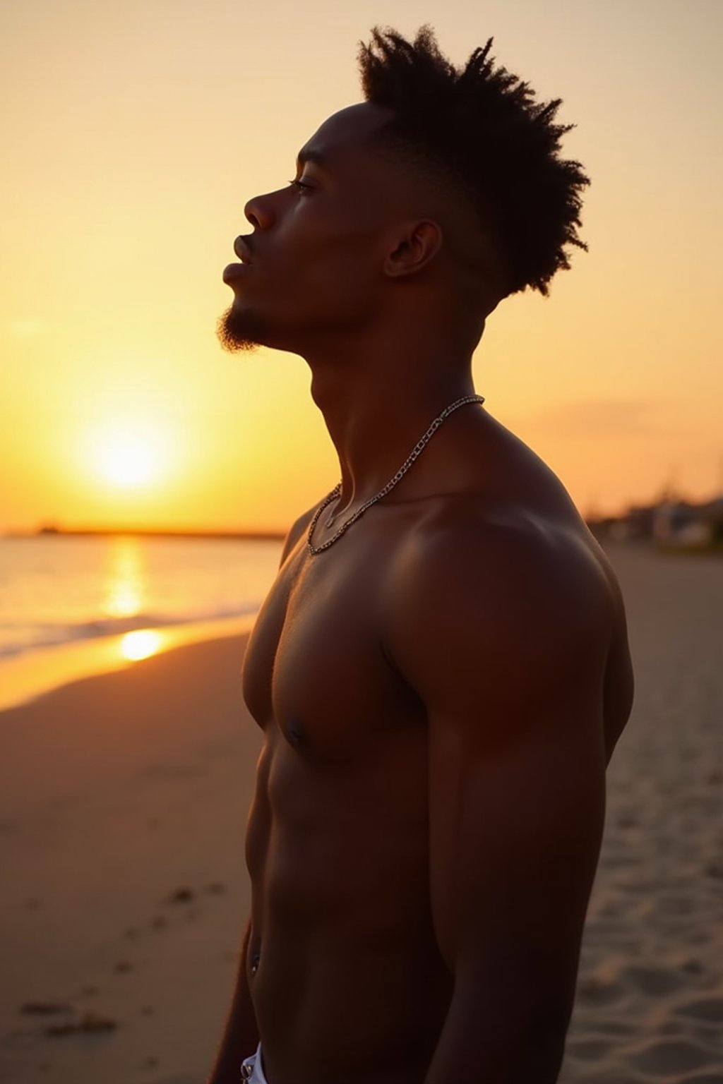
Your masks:
<svg viewBox="0 0 723 1084"><path fill-rule="evenodd" d="M560 1081L723 1084L723 560L610 553L637 695ZM0 1081L203 1084L248 907L243 646L0 713Z"/></svg>

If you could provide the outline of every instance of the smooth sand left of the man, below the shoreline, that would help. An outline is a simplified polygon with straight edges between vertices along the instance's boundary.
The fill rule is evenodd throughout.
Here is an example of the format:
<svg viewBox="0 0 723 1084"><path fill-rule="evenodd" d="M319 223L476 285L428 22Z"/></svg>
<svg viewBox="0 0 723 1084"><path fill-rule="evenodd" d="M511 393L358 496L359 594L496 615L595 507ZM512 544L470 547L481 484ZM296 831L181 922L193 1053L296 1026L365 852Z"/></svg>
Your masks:
<svg viewBox="0 0 723 1084"><path fill-rule="evenodd" d="M248 906L243 645L180 647L0 715L3 1082L205 1079Z"/></svg>

